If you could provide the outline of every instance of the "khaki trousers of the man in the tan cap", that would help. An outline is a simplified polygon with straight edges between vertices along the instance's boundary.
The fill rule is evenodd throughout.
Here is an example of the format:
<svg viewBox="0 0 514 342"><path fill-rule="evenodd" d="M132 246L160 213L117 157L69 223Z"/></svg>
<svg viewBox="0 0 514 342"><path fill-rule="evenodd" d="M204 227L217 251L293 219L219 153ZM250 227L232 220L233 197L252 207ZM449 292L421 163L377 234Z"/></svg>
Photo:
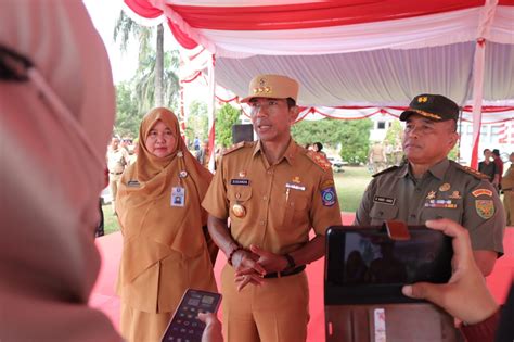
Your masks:
<svg viewBox="0 0 514 342"><path fill-rule="evenodd" d="M265 279L237 292L234 270L221 273L226 342L301 342L307 339L309 287L305 271Z"/></svg>

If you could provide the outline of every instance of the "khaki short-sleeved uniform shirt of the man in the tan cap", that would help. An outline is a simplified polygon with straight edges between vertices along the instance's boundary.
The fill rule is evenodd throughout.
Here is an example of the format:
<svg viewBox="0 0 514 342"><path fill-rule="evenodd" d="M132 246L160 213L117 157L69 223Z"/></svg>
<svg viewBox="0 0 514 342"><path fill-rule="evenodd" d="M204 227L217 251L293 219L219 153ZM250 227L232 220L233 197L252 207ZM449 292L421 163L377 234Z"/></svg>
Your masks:
<svg viewBox="0 0 514 342"><path fill-rule="evenodd" d="M232 238L244 248L295 251L309 241L311 227L324 235L342 224L330 162L314 154L291 140L269 165L260 142L240 143L224 153L202 205L217 218L230 217ZM234 204L244 206L244 217L234 215Z"/></svg>

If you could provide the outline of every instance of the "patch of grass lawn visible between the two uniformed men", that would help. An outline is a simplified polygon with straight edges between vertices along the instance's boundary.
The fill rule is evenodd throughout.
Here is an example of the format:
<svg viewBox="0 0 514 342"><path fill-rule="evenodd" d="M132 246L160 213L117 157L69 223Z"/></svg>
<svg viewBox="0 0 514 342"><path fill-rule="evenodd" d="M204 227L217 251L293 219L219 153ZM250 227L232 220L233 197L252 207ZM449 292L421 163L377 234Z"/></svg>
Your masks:
<svg viewBox="0 0 514 342"><path fill-rule="evenodd" d="M371 181L371 174L365 166L345 166L343 169L344 173L334 173L340 211L355 213Z"/></svg>

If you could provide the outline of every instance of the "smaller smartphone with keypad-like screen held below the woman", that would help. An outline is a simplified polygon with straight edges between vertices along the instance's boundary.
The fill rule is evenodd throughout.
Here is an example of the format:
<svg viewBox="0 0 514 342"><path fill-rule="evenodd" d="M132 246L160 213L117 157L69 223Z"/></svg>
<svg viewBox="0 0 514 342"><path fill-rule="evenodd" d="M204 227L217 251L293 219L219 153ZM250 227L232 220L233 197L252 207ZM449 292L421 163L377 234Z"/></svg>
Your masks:
<svg viewBox="0 0 514 342"><path fill-rule="evenodd" d="M198 313L217 313L221 294L188 289L163 335L163 342L201 342L205 324Z"/></svg>

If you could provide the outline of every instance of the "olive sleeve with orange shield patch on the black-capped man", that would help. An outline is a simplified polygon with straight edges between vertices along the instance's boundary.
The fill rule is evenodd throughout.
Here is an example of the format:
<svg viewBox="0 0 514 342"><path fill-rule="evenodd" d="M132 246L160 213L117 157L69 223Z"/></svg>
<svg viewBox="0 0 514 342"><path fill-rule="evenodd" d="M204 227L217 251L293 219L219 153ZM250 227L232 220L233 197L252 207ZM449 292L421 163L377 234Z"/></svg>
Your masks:
<svg viewBox="0 0 514 342"><path fill-rule="evenodd" d="M496 251L503 254L505 213L497 191L489 181L481 180L467 191L462 226L470 231L473 250Z"/></svg>

